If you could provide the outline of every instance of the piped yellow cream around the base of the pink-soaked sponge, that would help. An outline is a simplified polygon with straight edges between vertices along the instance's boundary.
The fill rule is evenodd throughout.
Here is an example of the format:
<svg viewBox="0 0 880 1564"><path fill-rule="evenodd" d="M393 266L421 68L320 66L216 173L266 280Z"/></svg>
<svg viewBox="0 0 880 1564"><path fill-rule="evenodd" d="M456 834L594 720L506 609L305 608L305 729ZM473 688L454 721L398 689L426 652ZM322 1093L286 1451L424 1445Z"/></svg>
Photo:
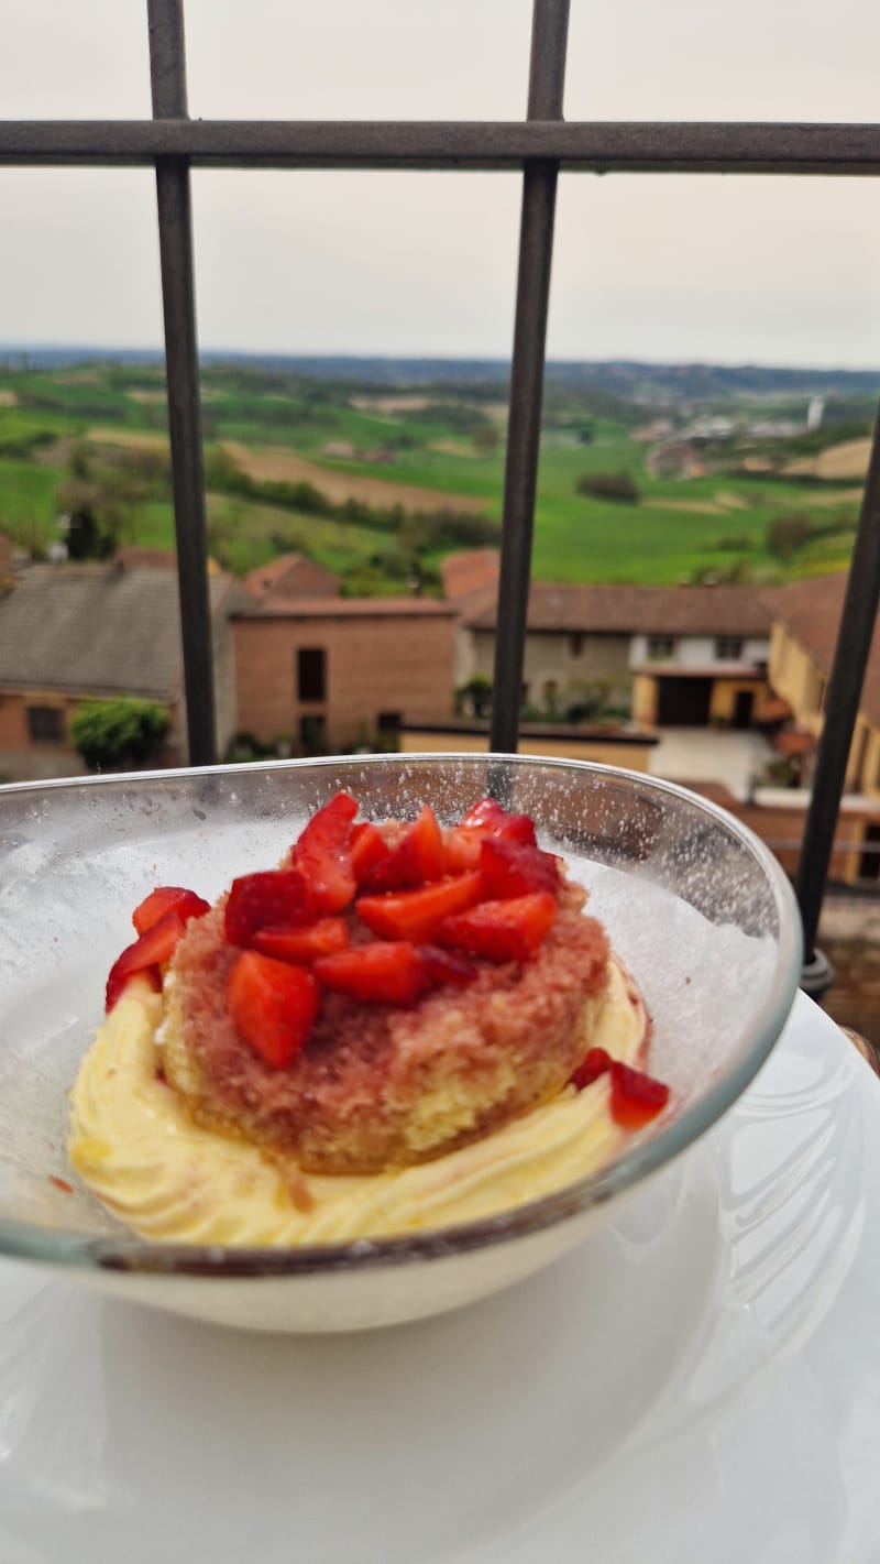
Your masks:
<svg viewBox="0 0 880 1564"><path fill-rule="evenodd" d="M608 1076L435 1162L369 1176L303 1175L256 1146L202 1129L156 1076L163 996L128 985L70 1093L70 1162L98 1200L145 1239L305 1245L445 1228L561 1189L625 1139ZM635 1064L646 1012L611 963L586 1046Z"/></svg>

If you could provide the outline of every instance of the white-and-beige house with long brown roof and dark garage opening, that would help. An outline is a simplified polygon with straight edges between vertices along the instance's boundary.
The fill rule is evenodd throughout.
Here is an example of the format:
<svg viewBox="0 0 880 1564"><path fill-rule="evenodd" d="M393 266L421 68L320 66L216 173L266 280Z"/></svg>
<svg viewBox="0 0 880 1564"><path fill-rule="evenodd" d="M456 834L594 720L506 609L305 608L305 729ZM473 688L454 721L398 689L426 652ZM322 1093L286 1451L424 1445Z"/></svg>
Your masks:
<svg viewBox="0 0 880 1564"><path fill-rule="evenodd" d="M491 679L497 586L461 599L456 685ZM767 694L771 615L746 586L533 582L524 702L577 707L602 687L642 727L749 727Z"/></svg>

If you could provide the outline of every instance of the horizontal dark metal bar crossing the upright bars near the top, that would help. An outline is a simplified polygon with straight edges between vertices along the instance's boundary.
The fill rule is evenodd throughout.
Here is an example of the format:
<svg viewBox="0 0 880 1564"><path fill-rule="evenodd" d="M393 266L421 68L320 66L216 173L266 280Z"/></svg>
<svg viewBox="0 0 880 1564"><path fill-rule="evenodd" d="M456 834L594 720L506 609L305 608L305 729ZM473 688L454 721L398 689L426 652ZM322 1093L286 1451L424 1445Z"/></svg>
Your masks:
<svg viewBox="0 0 880 1564"><path fill-rule="evenodd" d="M0 164L880 174L880 125L450 120L0 120Z"/></svg>

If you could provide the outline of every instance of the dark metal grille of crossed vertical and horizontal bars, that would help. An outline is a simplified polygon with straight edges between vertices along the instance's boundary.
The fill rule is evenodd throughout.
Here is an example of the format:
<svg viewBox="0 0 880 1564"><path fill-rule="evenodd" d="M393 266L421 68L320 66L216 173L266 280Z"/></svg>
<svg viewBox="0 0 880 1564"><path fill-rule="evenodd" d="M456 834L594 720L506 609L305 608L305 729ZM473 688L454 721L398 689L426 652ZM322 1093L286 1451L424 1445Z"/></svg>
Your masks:
<svg viewBox="0 0 880 1564"><path fill-rule="evenodd" d="M491 748L517 748L538 479L553 213L560 169L675 174L880 175L880 125L569 122L561 119L569 0L533 0L527 116L520 122L191 120L183 0L147 0L152 120L6 120L0 164L147 166L156 170L173 508L189 759L216 759L211 621L195 336L189 170L500 169L522 172L519 274L502 526ZM808 967L832 857L880 597L878 425L864 485L827 691L796 891Z"/></svg>

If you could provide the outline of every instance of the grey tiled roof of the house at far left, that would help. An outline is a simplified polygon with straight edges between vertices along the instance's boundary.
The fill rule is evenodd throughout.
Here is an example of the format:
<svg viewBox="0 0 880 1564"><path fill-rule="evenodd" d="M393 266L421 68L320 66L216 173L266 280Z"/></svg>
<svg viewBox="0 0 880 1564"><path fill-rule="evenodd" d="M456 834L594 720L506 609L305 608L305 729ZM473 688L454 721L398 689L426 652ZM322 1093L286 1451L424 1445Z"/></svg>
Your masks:
<svg viewBox="0 0 880 1564"><path fill-rule="evenodd" d="M211 610L236 583L209 577ZM183 679L177 574L167 566L33 565L0 599L0 687L142 694Z"/></svg>

